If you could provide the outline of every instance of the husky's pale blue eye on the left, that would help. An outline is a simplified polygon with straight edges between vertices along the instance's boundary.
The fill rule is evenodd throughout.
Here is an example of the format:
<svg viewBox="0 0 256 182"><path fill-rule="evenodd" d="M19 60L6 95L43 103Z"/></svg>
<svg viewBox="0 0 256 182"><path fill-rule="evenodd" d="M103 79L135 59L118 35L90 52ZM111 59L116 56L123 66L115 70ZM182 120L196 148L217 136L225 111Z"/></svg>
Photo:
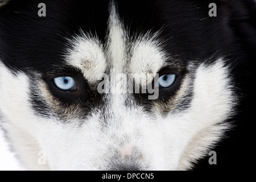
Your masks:
<svg viewBox="0 0 256 182"><path fill-rule="evenodd" d="M54 78L53 81L57 88L64 91L75 90L76 88L75 80L68 76L57 77L57 78Z"/></svg>

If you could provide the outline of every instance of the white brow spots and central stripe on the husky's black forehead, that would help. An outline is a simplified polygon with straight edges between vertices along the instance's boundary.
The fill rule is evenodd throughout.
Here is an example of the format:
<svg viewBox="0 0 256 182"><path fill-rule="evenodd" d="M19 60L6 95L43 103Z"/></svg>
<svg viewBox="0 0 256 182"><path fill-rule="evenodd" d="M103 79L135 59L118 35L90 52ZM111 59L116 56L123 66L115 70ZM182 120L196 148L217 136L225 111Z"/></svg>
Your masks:
<svg viewBox="0 0 256 182"><path fill-rule="evenodd" d="M108 33L102 43L97 35L80 30L68 40L65 51L68 65L79 68L89 82L100 79L106 69L115 73L157 73L168 60L158 37L160 30L137 35L134 39L123 24L117 5L110 3Z"/></svg>

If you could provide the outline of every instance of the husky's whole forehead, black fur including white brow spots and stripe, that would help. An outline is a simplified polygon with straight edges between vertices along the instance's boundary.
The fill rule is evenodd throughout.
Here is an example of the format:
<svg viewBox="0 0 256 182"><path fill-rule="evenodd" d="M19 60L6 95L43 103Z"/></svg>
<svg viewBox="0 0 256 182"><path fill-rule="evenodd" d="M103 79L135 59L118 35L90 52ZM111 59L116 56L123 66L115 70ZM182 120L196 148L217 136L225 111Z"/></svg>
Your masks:
<svg viewBox="0 0 256 182"><path fill-rule="evenodd" d="M44 1L46 17L38 16L39 1L31 1L31 6L23 1L19 5L10 3L7 11L0 12L0 31L5 35L1 37L0 51L2 57L9 60L9 67L53 73L68 62L79 69L81 65L92 68L87 75L97 75L106 66L116 69L117 73L156 72L167 59L173 61L170 55L179 60L175 62L179 67L187 64L191 57L204 59L219 49L214 43L221 40L221 36L212 34L220 31L213 21L219 17L209 19L214 28L197 28L207 26L200 19L205 18L208 11L192 9L194 1L59 2ZM191 14L181 16L177 10ZM193 16L198 17L196 22ZM198 35L208 37L209 42L201 42ZM201 47L205 47L205 51L200 51ZM166 52L169 55L165 55Z"/></svg>

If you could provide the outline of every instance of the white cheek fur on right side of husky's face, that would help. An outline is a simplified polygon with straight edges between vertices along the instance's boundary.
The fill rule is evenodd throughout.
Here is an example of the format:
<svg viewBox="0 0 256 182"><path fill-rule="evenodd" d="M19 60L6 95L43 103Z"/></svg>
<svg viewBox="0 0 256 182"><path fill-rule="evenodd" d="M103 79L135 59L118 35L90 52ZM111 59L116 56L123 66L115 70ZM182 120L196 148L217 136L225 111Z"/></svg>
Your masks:
<svg viewBox="0 0 256 182"><path fill-rule="evenodd" d="M232 80L227 73L228 68L224 66L223 59L218 59L210 67L201 65L197 69L191 107L185 111L183 117L191 120L189 125L193 125L198 132L193 132L193 138L184 149L177 169L189 168L191 162L202 158L207 153L207 149L232 127L229 123L222 123L232 114L236 103L230 87ZM193 119L193 115L200 117ZM196 147L195 144L200 147Z"/></svg>

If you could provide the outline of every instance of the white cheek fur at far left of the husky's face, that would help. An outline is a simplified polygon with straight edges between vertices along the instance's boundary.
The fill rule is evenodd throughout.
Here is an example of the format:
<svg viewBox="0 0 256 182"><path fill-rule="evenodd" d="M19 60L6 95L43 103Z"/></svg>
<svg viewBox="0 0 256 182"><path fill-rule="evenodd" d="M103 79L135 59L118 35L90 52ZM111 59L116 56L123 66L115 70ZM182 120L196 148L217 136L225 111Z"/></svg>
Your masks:
<svg viewBox="0 0 256 182"><path fill-rule="evenodd" d="M2 126L8 131L7 138L19 159L27 168L33 169L38 161L36 155L40 147L34 137L38 119L33 114L34 111L29 103L28 82L26 75L17 73L15 76L0 62Z"/></svg>

